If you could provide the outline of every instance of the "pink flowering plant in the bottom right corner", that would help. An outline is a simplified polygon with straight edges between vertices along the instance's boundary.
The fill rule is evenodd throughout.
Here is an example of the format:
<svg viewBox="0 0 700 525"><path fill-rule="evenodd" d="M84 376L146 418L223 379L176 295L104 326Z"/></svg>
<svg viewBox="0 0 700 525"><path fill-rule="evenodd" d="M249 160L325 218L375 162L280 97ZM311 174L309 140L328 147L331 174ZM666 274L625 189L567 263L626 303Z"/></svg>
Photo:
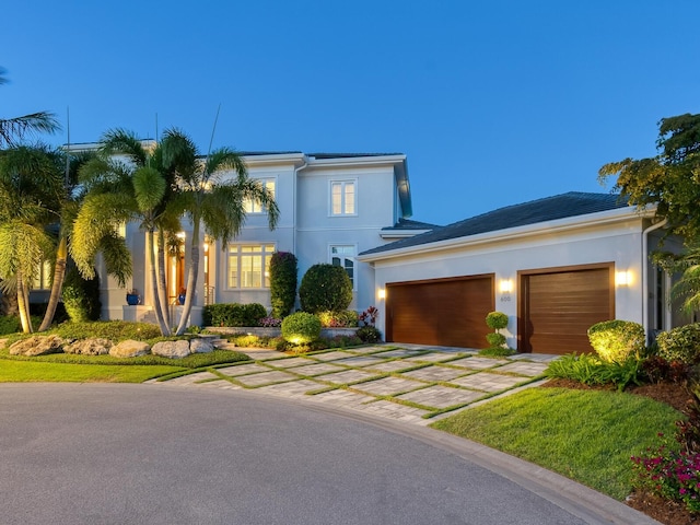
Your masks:
<svg viewBox="0 0 700 525"><path fill-rule="evenodd" d="M631 458L638 475L634 483L662 498L684 502L690 512L700 512L700 454L678 452L666 444Z"/></svg>

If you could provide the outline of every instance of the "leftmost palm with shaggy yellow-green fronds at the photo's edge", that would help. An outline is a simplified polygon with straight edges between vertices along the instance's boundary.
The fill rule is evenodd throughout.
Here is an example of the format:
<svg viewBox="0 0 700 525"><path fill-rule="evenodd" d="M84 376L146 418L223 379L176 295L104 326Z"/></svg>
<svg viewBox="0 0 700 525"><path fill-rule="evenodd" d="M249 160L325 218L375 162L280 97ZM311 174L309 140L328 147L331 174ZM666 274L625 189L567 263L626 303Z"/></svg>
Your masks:
<svg viewBox="0 0 700 525"><path fill-rule="evenodd" d="M16 291L22 329L33 331L30 289L54 240L55 195L62 184L60 153L47 147L0 151L0 277L3 292Z"/></svg>

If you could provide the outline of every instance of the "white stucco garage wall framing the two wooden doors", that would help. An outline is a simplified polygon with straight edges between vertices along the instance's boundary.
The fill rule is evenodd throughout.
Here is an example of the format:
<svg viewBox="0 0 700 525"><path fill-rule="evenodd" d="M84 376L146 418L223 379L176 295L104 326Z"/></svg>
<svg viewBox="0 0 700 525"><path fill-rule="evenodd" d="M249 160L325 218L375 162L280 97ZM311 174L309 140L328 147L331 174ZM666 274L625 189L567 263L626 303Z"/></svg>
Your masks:
<svg viewBox="0 0 700 525"><path fill-rule="evenodd" d="M439 279L446 277L494 273L495 310L509 316L508 345L517 347L518 271L540 268L560 268L598 262L614 262L615 271L628 271L630 285L616 285L616 318L643 324L642 318L642 220L632 219L615 225L588 224L563 232L540 231L530 235L513 229L512 235L489 240L485 236L467 240L462 246L431 250L421 246L422 253L390 258L374 258L375 291L386 290L392 282ZM501 232L498 232L501 233ZM512 282L511 293L501 293L502 280ZM385 326L385 301L377 300L380 317L377 328Z"/></svg>

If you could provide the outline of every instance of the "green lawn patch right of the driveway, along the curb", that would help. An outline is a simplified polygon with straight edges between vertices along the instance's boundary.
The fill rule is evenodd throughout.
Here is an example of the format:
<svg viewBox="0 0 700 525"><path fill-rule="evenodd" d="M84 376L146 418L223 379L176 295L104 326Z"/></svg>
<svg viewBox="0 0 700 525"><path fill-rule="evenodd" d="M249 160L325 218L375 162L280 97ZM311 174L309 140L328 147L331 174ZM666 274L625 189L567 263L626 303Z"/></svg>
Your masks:
<svg viewBox="0 0 700 525"><path fill-rule="evenodd" d="M680 412L632 394L528 388L431 427L574 479L617 500L631 491L630 457L673 436Z"/></svg>

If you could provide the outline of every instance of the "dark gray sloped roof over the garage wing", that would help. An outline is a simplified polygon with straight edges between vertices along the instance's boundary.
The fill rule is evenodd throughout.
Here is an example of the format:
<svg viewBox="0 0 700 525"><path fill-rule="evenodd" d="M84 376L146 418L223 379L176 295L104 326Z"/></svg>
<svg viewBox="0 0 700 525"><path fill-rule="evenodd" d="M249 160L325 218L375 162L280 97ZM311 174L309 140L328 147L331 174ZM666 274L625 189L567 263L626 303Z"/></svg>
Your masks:
<svg viewBox="0 0 700 525"><path fill-rule="evenodd" d="M627 199L612 194L585 194L570 191L568 194L545 197L521 205L506 206L481 215L465 219L446 226L434 226L431 232L385 244L362 252L360 255L377 254L393 249L420 246L451 238L467 237L480 233L495 232L510 228L537 224L569 217L585 215L599 211L628 208Z"/></svg>

